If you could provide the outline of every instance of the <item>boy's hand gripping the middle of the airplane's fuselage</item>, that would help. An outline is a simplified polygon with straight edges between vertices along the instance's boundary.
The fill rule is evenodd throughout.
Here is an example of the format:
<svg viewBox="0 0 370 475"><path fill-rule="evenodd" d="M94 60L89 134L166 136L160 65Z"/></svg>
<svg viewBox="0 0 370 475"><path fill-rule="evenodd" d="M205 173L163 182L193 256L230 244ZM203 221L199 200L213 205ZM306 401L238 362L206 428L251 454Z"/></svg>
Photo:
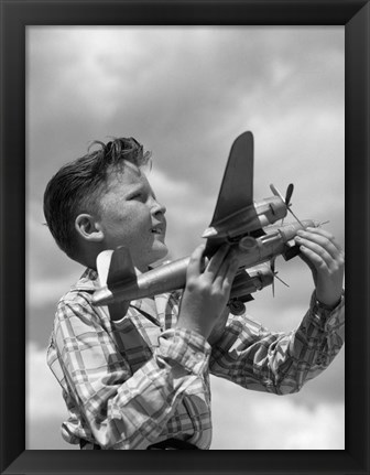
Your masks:
<svg viewBox="0 0 370 475"><path fill-rule="evenodd" d="M225 245L204 268L204 250L202 245L191 256L176 326L193 330L208 338L225 312L238 260L230 247Z"/></svg>

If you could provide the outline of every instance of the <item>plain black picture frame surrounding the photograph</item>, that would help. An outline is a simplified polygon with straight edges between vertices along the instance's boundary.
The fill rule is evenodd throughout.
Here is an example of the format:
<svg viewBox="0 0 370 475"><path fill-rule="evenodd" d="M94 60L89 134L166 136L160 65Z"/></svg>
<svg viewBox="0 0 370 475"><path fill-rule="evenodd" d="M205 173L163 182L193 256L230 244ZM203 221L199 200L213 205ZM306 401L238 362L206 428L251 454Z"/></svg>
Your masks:
<svg viewBox="0 0 370 475"><path fill-rule="evenodd" d="M0 0L0 4L1 474L369 474L369 1ZM174 451L160 455L160 451L25 450L25 28L46 24L345 26L348 349L344 451L198 451L189 456Z"/></svg>

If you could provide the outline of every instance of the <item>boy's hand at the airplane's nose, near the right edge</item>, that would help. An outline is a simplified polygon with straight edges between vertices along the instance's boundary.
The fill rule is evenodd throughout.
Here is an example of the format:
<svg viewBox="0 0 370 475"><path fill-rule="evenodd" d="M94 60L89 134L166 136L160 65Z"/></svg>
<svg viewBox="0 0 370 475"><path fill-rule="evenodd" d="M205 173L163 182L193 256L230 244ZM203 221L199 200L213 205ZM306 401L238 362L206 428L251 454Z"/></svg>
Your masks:
<svg viewBox="0 0 370 475"><path fill-rule="evenodd" d="M298 230L295 238L302 251L302 259L312 270L316 299L334 307L341 295L345 252L333 235L322 228Z"/></svg>

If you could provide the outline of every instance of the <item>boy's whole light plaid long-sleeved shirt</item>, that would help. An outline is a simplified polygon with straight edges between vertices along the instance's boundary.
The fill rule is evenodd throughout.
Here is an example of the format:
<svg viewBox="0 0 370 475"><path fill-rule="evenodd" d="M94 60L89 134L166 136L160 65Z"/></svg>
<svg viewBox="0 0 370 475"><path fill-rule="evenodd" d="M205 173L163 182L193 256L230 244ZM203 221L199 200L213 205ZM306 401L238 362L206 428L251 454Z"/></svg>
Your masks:
<svg viewBox="0 0 370 475"><path fill-rule="evenodd" d="M120 321L94 307L98 276L87 270L58 303L47 363L69 419L62 435L106 450L146 449L176 438L209 449L209 373L244 388L285 395L322 373L344 343L344 296L333 311L315 295L298 328L271 333L230 315L210 347L174 328L181 292L133 301Z"/></svg>

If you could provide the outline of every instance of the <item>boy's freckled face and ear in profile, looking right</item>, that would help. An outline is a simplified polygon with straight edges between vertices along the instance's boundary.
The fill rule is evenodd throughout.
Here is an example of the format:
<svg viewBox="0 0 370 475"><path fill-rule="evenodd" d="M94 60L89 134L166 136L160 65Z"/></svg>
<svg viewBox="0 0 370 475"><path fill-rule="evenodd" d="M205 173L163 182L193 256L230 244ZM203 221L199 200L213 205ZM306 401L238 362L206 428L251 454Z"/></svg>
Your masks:
<svg viewBox="0 0 370 475"><path fill-rule="evenodd" d="M156 202L146 176L137 166L126 163L122 172L109 174L108 191L99 205L97 220L104 233L105 249L126 246L141 272L166 256L165 207Z"/></svg>

